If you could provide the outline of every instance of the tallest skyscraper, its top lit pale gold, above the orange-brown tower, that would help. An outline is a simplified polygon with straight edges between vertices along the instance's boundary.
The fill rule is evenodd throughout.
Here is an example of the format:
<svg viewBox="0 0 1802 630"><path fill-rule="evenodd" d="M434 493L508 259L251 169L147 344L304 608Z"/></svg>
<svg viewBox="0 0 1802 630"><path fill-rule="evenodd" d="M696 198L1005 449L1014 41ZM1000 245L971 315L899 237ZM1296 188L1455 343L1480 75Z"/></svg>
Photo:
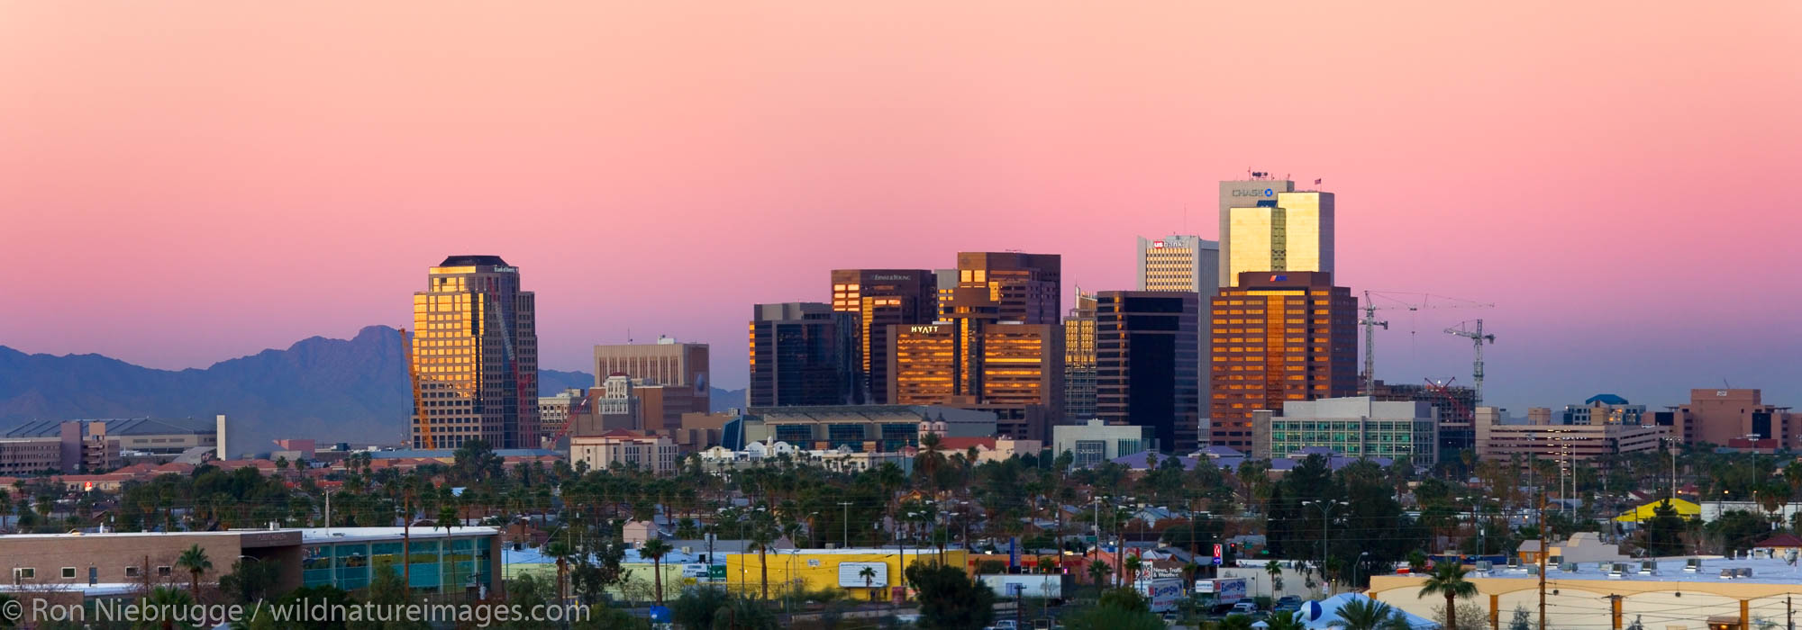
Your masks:
<svg viewBox="0 0 1802 630"><path fill-rule="evenodd" d="M1222 189L1243 184L1222 182ZM1260 196L1222 211L1224 281L1238 283L1245 272L1333 272L1333 194L1278 187L1247 191Z"/></svg>

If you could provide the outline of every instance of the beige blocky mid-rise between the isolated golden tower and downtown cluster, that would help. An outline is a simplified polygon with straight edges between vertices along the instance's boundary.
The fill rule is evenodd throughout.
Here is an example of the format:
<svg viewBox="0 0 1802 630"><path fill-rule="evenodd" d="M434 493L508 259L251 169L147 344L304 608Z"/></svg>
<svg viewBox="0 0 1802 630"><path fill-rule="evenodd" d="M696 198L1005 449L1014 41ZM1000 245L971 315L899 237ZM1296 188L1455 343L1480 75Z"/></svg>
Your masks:
<svg viewBox="0 0 1802 630"><path fill-rule="evenodd" d="M712 405L706 344L660 337L656 344L595 346L595 387L605 385L611 374L633 380L645 430L679 428L681 414L705 414Z"/></svg>

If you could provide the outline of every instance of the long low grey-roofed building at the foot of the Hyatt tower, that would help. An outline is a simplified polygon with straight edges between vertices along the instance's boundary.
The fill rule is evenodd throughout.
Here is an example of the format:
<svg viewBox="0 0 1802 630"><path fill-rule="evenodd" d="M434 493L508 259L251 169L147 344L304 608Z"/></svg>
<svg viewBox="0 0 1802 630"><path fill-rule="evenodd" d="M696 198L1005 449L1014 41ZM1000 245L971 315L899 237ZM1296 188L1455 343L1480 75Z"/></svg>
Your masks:
<svg viewBox="0 0 1802 630"><path fill-rule="evenodd" d="M919 436L989 437L995 414L950 405L833 405L751 407L728 423L726 450L748 443L784 441L802 450L847 446L852 452L892 452L919 446Z"/></svg>

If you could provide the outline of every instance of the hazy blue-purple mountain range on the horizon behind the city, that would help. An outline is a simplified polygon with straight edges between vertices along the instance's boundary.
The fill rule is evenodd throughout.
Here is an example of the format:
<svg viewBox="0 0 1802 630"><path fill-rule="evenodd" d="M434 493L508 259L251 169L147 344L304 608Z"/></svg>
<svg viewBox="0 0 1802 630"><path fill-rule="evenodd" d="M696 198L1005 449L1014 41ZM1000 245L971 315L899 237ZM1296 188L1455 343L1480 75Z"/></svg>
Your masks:
<svg viewBox="0 0 1802 630"><path fill-rule="evenodd" d="M595 376L539 371L539 392L593 387ZM714 410L744 407L744 391L714 389ZM0 427L29 419L229 419L229 452L267 452L278 437L400 443L413 392L400 331L369 326L355 338L310 337L288 349L213 364L151 369L103 355L25 355L0 346Z"/></svg>

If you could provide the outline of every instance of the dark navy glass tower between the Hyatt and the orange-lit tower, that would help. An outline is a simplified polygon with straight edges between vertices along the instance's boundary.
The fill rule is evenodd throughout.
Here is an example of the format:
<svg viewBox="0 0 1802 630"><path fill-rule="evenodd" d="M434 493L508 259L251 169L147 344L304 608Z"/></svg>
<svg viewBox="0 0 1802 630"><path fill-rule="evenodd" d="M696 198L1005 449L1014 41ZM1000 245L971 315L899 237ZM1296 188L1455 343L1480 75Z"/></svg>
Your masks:
<svg viewBox="0 0 1802 630"><path fill-rule="evenodd" d="M1193 292L1096 293L1096 418L1151 427L1164 452L1198 446Z"/></svg>

